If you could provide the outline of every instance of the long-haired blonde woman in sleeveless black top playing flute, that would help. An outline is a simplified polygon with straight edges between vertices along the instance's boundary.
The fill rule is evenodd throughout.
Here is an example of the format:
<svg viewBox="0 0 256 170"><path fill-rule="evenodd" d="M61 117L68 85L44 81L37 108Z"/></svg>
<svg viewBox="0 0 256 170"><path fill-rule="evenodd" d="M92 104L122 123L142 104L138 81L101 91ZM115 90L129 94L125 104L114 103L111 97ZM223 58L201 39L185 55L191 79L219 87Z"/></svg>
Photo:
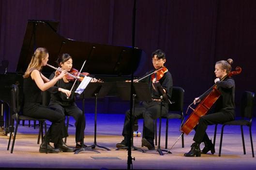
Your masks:
<svg viewBox="0 0 256 170"><path fill-rule="evenodd" d="M66 70L61 73L55 72L53 79L49 80L40 71L47 64L49 54L45 48L37 48L32 56L30 64L23 75L24 107L23 114L32 118L45 118L52 122L48 129L39 152L49 153L73 152L73 148L63 143L62 138L68 136L65 128L65 116L60 110L41 105L42 91L49 89L67 74ZM52 147L49 142L58 144L58 148Z"/></svg>

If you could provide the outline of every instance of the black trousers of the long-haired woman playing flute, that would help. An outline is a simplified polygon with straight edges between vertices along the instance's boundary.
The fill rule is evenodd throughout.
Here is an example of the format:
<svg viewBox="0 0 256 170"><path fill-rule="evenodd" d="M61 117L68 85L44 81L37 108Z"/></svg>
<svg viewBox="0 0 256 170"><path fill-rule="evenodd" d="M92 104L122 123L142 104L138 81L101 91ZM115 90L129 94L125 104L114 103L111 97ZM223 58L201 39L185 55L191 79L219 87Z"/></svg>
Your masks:
<svg viewBox="0 0 256 170"><path fill-rule="evenodd" d="M51 121L52 124L46 134L48 141L51 143L58 144L62 138L68 136L65 128L65 116L56 108L37 103L27 103L23 107L23 115L32 118L45 118Z"/></svg>

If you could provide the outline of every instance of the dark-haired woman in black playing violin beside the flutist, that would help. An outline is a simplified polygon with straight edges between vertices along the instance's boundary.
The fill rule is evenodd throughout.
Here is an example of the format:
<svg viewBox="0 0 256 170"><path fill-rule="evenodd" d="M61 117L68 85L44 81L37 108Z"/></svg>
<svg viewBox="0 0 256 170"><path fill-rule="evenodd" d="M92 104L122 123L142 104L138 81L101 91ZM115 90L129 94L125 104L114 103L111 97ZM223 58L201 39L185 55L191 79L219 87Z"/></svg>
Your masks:
<svg viewBox="0 0 256 170"><path fill-rule="evenodd" d="M73 59L67 53L60 55L57 63L61 70L72 70ZM54 87L49 89L49 92L51 92L49 106L61 110L63 116L68 115L75 119L75 143L76 148L79 148L81 147L80 142L84 138L85 119L82 119L83 112L75 104L75 92L70 91L74 81L70 81L72 78L69 75L70 74L67 74L67 76L61 78L56 82ZM51 78L54 78L54 73L50 75L50 79ZM94 81L94 79L92 81ZM76 81L75 86L78 86L78 81ZM76 87L74 89L76 89ZM56 145L56 147L58 146Z"/></svg>

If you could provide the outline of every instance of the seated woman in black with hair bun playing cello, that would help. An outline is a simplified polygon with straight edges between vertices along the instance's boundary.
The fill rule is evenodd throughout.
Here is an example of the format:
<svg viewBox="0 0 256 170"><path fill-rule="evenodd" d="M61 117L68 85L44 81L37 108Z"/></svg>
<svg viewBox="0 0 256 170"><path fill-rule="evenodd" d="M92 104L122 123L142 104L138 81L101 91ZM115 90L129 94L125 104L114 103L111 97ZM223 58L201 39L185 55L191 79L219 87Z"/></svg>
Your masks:
<svg viewBox="0 0 256 170"><path fill-rule="evenodd" d="M191 150L184 154L185 157L200 157L201 153L206 154L209 151L211 151L211 154L214 154L214 145L206 133L207 126L225 123L226 121L230 121L235 118L235 81L233 78L227 76L231 71L232 63L232 59L216 62L214 71L216 78L214 82L217 86L217 90L221 92L221 95L216 101L214 113L199 118L199 122L195 127L196 133L193 138L195 143L191 145ZM196 103L202 101L211 91L212 89L209 89L201 96L196 97L194 104L196 105ZM199 146L202 142L204 143L205 147L202 151L200 151Z"/></svg>

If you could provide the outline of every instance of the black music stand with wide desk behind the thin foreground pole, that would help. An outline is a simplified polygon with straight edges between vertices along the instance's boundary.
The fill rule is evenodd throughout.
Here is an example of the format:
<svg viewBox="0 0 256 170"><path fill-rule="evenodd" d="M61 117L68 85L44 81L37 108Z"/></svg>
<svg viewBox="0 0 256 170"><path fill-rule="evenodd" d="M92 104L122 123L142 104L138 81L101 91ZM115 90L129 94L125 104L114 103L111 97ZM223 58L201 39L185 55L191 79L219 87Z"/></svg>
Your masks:
<svg viewBox="0 0 256 170"><path fill-rule="evenodd" d="M122 100L130 100L131 82L116 82L116 84L117 84L117 90L118 90L120 98ZM148 101L149 102L149 101L151 101L151 92L150 92L148 83L141 83L141 82L133 83L133 88L134 88L133 92L135 92L133 94L133 101L132 101L133 102L132 108L133 108L133 113L134 113L135 99L138 101ZM132 127L133 127L133 124L134 124L133 115L132 115L131 119L132 119ZM133 131L133 129L130 130L130 132L132 132L132 131ZM132 135L131 148L133 150L138 150L138 151L144 152L143 149L140 149L133 145L133 135ZM120 150L120 149L128 149L128 146L120 147L120 148L117 148L116 150Z"/></svg>

